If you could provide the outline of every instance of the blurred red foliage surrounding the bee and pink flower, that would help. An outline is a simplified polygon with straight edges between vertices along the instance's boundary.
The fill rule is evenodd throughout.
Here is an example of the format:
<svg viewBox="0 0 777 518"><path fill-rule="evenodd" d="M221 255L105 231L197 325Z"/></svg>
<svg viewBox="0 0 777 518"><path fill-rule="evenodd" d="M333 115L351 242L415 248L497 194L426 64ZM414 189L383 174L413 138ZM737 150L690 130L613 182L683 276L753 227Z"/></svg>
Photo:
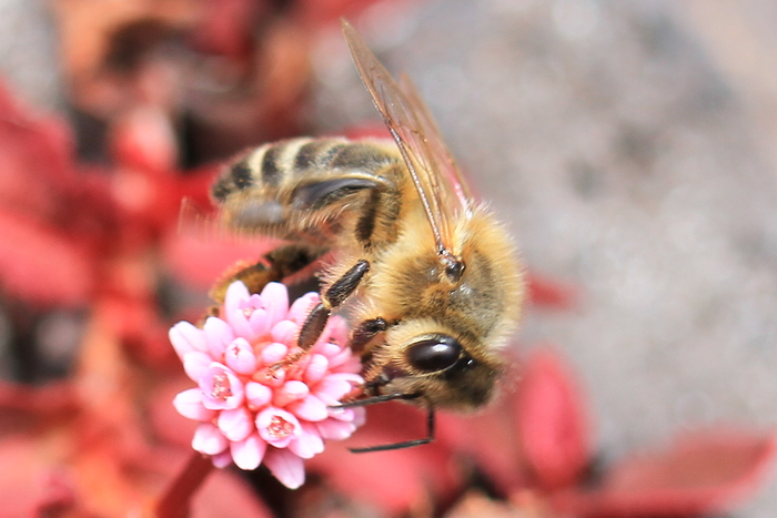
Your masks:
<svg viewBox="0 0 777 518"><path fill-rule="evenodd" d="M0 385L0 465L14 467L0 474L4 514L123 516L148 509L186 465L192 426L170 405L179 388L158 281L172 274L204 290L236 260L254 260L273 246L179 232L181 201L206 206L216 172L179 170L173 121L185 109L174 101L185 89L185 69L160 64L149 50L134 69L117 72L115 63L108 65L117 34L152 20L163 35L183 33L190 49L223 59L213 70L230 94L208 97L194 113L211 131L223 130L213 146L220 151L240 144L233 139L239 134L251 141L293 133L312 29L370 4L301 0L284 16L270 2L249 0L105 2L100 11L79 0L58 4L74 103L108 121L112 163L104 170L79 164L70 129L31 114L0 85L3 302L39 313L89 309L78 368L67 382ZM254 21L262 22L261 35ZM386 133L352 133L365 135ZM532 274L528 298L568 308L576 293ZM444 508L466 494L477 474L511 502L491 507L470 495L457 516L493 509L504 516L690 517L729 509L756 488L775 456L771 433L714 428L626 458L589 480L587 406L569 369L556 354L538 352L521 377L515 392L507 387L487 412L438 415L428 446L354 456L333 444L309 469L332 494L386 516ZM423 412L379 405L350 443L390 444L425 433ZM271 516L226 471L212 475L192 501L191 516L216 515Z"/></svg>

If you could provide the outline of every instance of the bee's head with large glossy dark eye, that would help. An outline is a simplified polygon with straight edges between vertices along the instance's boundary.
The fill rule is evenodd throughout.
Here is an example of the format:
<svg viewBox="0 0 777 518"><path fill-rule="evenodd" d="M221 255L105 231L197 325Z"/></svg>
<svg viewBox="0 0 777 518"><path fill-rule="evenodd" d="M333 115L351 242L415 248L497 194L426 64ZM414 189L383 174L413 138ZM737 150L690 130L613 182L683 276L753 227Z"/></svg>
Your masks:
<svg viewBox="0 0 777 518"><path fill-rule="evenodd" d="M424 406L472 410L492 399L503 367L494 355L476 355L482 349L453 333L415 334L375 351L367 378L380 395L404 394Z"/></svg>

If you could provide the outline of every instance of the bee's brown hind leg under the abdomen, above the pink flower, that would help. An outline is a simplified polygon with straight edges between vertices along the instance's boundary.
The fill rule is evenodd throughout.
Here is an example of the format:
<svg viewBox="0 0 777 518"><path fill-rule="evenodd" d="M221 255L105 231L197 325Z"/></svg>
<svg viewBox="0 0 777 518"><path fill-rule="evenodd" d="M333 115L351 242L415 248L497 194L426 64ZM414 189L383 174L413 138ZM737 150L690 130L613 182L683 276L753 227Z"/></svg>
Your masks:
<svg viewBox="0 0 777 518"><path fill-rule="evenodd" d="M309 246L287 245L265 254L259 262L242 266L219 281L210 292L210 297L218 304L224 302L226 288L235 281L241 281L250 293L259 293L271 282L281 282L312 264L324 251L311 250Z"/></svg>

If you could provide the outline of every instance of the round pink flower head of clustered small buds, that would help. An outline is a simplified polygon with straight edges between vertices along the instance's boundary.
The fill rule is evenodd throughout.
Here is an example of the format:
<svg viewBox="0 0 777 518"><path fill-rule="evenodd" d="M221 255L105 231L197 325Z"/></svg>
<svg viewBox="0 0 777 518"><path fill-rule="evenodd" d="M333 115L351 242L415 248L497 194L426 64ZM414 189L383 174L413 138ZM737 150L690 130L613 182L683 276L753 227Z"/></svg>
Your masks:
<svg viewBox="0 0 777 518"><path fill-rule="evenodd" d="M184 417L200 421L192 447L219 467L264 465L290 488L305 480L303 459L324 439L345 439L364 420L362 408L332 408L364 383L346 347L345 322L334 316L303 354L296 335L319 302L309 293L289 307L283 284L250 294L241 282L228 292L219 317L202 328L179 322L170 342L198 384L175 396Z"/></svg>

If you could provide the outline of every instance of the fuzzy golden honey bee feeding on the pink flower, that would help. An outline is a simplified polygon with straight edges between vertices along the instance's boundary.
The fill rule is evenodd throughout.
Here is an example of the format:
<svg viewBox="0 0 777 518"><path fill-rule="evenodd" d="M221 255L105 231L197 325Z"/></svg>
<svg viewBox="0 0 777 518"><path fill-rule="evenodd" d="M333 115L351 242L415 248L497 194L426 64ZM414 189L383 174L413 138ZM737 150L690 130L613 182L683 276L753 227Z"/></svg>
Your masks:
<svg viewBox="0 0 777 518"><path fill-rule="evenodd" d="M485 405L505 362L498 352L524 298L504 226L473 200L421 98L397 83L355 29L343 33L392 140L294 139L239 158L212 189L223 224L287 242L225 281L249 287L287 278L330 254L321 302L297 343L315 343L347 302L350 346L364 360L363 398L427 409Z"/></svg>

